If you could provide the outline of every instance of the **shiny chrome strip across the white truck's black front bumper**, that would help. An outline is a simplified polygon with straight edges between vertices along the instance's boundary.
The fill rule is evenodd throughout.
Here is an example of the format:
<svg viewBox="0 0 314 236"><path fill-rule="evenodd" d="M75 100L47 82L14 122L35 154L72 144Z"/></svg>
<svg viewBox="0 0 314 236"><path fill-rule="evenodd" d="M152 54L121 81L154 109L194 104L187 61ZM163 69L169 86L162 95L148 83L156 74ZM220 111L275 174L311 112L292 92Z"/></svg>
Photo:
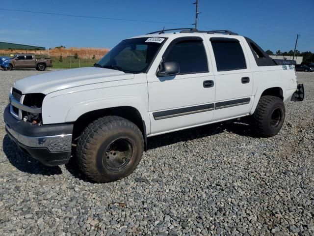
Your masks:
<svg viewBox="0 0 314 236"><path fill-rule="evenodd" d="M52 152L69 151L72 147L72 134L30 137L19 134L5 124L5 129L18 142L30 148L48 148Z"/></svg>

